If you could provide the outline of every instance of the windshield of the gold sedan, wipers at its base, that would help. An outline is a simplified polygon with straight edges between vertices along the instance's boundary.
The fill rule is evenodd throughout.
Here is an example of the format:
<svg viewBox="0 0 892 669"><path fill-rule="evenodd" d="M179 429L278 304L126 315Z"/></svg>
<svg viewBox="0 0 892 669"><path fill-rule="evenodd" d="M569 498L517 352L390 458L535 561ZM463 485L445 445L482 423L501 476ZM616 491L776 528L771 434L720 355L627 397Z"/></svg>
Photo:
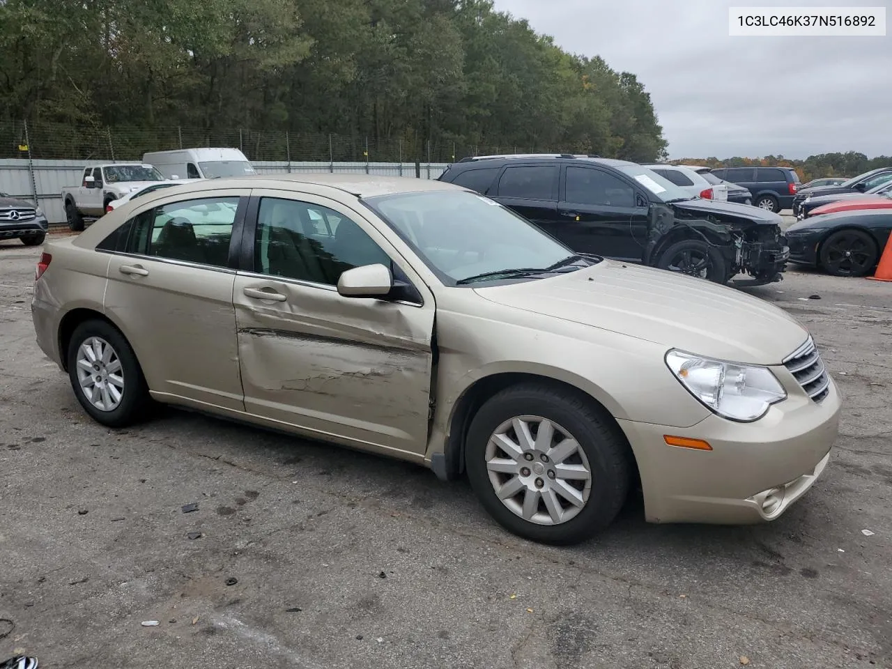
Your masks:
<svg viewBox="0 0 892 669"><path fill-rule="evenodd" d="M575 255L483 195L434 191L379 195L363 202L446 285L541 278L576 271L600 260Z"/></svg>

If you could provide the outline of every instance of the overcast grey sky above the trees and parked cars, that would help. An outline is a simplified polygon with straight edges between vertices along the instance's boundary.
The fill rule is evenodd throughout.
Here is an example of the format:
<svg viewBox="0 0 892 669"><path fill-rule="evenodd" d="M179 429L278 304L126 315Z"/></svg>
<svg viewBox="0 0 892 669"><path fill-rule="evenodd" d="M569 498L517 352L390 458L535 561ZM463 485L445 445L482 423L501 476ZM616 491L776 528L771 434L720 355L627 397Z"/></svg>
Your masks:
<svg viewBox="0 0 892 669"><path fill-rule="evenodd" d="M731 6L886 6L886 37L730 37ZM672 158L892 155L892 0L495 0L638 76Z"/></svg>

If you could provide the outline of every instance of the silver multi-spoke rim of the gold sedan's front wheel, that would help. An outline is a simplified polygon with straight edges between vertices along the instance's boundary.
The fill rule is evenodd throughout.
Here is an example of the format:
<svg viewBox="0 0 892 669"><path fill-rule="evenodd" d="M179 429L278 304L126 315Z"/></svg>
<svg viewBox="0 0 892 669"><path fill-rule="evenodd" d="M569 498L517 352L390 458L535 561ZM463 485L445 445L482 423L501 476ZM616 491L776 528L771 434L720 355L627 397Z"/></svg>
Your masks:
<svg viewBox="0 0 892 669"><path fill-rule="evenodd" d="M566 523L589 500L591 466L582 446L547 418L518 416L499 425L485 460L496 496L531 523Z"/></svg>

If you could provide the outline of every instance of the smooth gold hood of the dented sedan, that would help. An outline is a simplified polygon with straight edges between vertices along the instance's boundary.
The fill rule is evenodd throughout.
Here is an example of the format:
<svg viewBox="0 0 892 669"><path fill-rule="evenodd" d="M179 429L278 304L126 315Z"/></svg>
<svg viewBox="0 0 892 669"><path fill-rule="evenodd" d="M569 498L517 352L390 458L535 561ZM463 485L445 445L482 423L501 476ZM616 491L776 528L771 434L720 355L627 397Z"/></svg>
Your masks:
<svg viewBox="0 0 892 669"><path fill-rule="evenodd" d="M769 302L705 279L602 260L534 281L475 287L486 300L698 355L778 365L808 332Z"/></svg>

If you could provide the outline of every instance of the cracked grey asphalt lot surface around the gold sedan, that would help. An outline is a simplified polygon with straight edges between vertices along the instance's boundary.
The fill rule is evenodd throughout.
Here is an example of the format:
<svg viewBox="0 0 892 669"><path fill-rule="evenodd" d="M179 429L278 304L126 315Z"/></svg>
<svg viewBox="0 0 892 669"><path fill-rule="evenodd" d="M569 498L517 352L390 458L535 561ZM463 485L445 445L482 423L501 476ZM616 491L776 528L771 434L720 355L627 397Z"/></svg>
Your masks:
<svg viewBox="0 0 892 669"><path fill-rule="evenodd" d="M0 243L0 661L892 666L892 285L792 268L746 289L812 329L844 393L830 465L785 516L648 525L632 501L558 549L423 468L176 409L95 424L34 342L38 254Z"/></svg>

